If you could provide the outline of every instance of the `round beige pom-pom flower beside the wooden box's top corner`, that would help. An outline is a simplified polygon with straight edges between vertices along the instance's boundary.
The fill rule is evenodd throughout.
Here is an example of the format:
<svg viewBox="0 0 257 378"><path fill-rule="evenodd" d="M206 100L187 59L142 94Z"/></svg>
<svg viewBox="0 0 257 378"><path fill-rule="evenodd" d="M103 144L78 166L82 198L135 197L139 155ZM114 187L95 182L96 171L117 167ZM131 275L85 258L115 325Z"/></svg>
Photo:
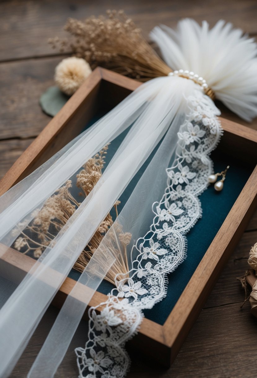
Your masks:
<svg viewBox="0 0 257 378"><path fill-rule="evenodd" d="M71 96L92 72L90 65L82 58L72 56L63 59L55 67L55 83L66 95Z"/></svg>

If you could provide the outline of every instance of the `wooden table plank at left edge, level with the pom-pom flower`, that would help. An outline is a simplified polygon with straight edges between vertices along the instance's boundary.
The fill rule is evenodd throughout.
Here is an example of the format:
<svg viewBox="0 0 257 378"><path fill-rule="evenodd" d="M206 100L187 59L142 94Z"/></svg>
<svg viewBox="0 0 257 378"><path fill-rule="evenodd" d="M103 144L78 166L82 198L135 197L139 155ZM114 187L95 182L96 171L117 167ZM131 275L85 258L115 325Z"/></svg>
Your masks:
<svg viewBox="0 0 257 378"><path fill-rule="evenodd" d="M37 136L49 122L38 104L60 57L0 64L0 139Z"/></svg>

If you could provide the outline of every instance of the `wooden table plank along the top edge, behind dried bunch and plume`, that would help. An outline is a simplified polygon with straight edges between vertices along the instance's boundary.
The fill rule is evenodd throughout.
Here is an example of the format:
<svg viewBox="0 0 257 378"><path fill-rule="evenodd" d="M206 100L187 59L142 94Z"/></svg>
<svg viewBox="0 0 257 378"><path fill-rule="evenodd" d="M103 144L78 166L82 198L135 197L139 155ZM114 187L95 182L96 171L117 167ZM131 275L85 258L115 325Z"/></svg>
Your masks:
<svg viewBox="0 0 257 378"><path fill-rule="evenodd" d="M142 28L145 37L158 23L174 27L183 17L193 17L198 22L206 19L211 25L222 18L233 22L245 32L257 33L255 0L112 0L111 3L104 0L11 0L0 3L0 59L55 54L56 52L47 45L47 39L55 35L65 35L62 28L68 17L84 19L92 14L103 14L108 7L123 8L136 25Z"/></svg>

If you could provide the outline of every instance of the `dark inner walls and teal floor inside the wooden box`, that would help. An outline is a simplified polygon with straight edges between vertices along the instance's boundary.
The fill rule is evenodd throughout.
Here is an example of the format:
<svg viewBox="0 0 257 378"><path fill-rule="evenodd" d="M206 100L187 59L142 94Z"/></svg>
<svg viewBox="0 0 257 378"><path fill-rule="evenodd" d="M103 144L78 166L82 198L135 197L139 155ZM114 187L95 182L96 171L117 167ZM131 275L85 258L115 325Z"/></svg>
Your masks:
<svg viewBox="0 0 257 378"><path fill-rule="evenodd" d="M93 102L88 102L89 106L84 106L83 102L78 108L77 114L71 117L66 124L66 129L65 131L63 130L63 133L65 133L67 129L72 128L73 130L70 132L72 137L78 135L83 129L86 129L106 114L129 93L130 90L127 88L102 80L101 85L96 88L96 93L94 92L94 98L97 96L96 103L93 99L90 100ZM90 121L88 121L90 118L89 115L93 115L91 116ZM124 134L125 132L109 146L107 161L112 158L121 139L124 138ZM60 136L58 135L54 141L54 149L56 149L56 151L60 150L63 143L69 141L67 138L69 138L69 136L62 136L62 133L60 133ZM50 157L50 153L52 155L54 152L54 150L46 150L41 160L39 158L31 169L37 168L43 163L43 161L46 161L47 158ZM216 172L220 172L225 169L226 166L230 165L224 188L221 192L216 192L211 185L199 197L203 213L202 218L198 220L196 225L186 235L188 241L187 259L181 263L172 274L168 275L167 296L151 310L144 311L147 319L160 325L164 324L182 291L185 289L188 281L199 265L203 255L217 234L217 231L220 229L234 202L242 191L243 186L251 175L256 162L256 152L254 142L234 135L233 133L224 133L219 146L211 155L214 162L214 170ZM149 160L150 159L148 159L148 161ZM141 167L121 195L119 212L132 193L139 177L145 169L145 166L148 164L148 161L146 161ZM158 200L158 198L156 200ZM80 273L72 269L69 277L78 280ZM113 285L104 280L99 286L98 291L103 294L108 294L112 288Z"/></svg>

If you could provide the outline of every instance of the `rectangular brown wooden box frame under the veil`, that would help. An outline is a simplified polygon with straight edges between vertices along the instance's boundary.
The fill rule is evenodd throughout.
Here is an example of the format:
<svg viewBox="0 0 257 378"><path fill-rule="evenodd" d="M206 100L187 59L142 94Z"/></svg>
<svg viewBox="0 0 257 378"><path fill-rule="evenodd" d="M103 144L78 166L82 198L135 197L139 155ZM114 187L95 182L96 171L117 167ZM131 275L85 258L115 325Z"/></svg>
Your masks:
<svg viewBox="0 0 257 378"><path fill-rule="evenodd" d="M107 112L139 85L141 83L138 81L96 68L2 178L0 194L77 136L98 112ZM169 366L179 352L257 204L257 166L254 167L257 162L257 132L224 118L220 118L220 121L224 135L217 148L218 155L225 152L232 161L240 156L243 166L250 169L249 177L167 319L159 324L145 316L138 335L128 345L140 353L147 353L147 358L156 359L165 366ZM17 275L25 274L35 262L11 248L2 259L6 266L15 266ZM67 278L52 303L60 308L75 283L75 280ZM104 300L105 295L96 292L90 305Z"/></svg>

